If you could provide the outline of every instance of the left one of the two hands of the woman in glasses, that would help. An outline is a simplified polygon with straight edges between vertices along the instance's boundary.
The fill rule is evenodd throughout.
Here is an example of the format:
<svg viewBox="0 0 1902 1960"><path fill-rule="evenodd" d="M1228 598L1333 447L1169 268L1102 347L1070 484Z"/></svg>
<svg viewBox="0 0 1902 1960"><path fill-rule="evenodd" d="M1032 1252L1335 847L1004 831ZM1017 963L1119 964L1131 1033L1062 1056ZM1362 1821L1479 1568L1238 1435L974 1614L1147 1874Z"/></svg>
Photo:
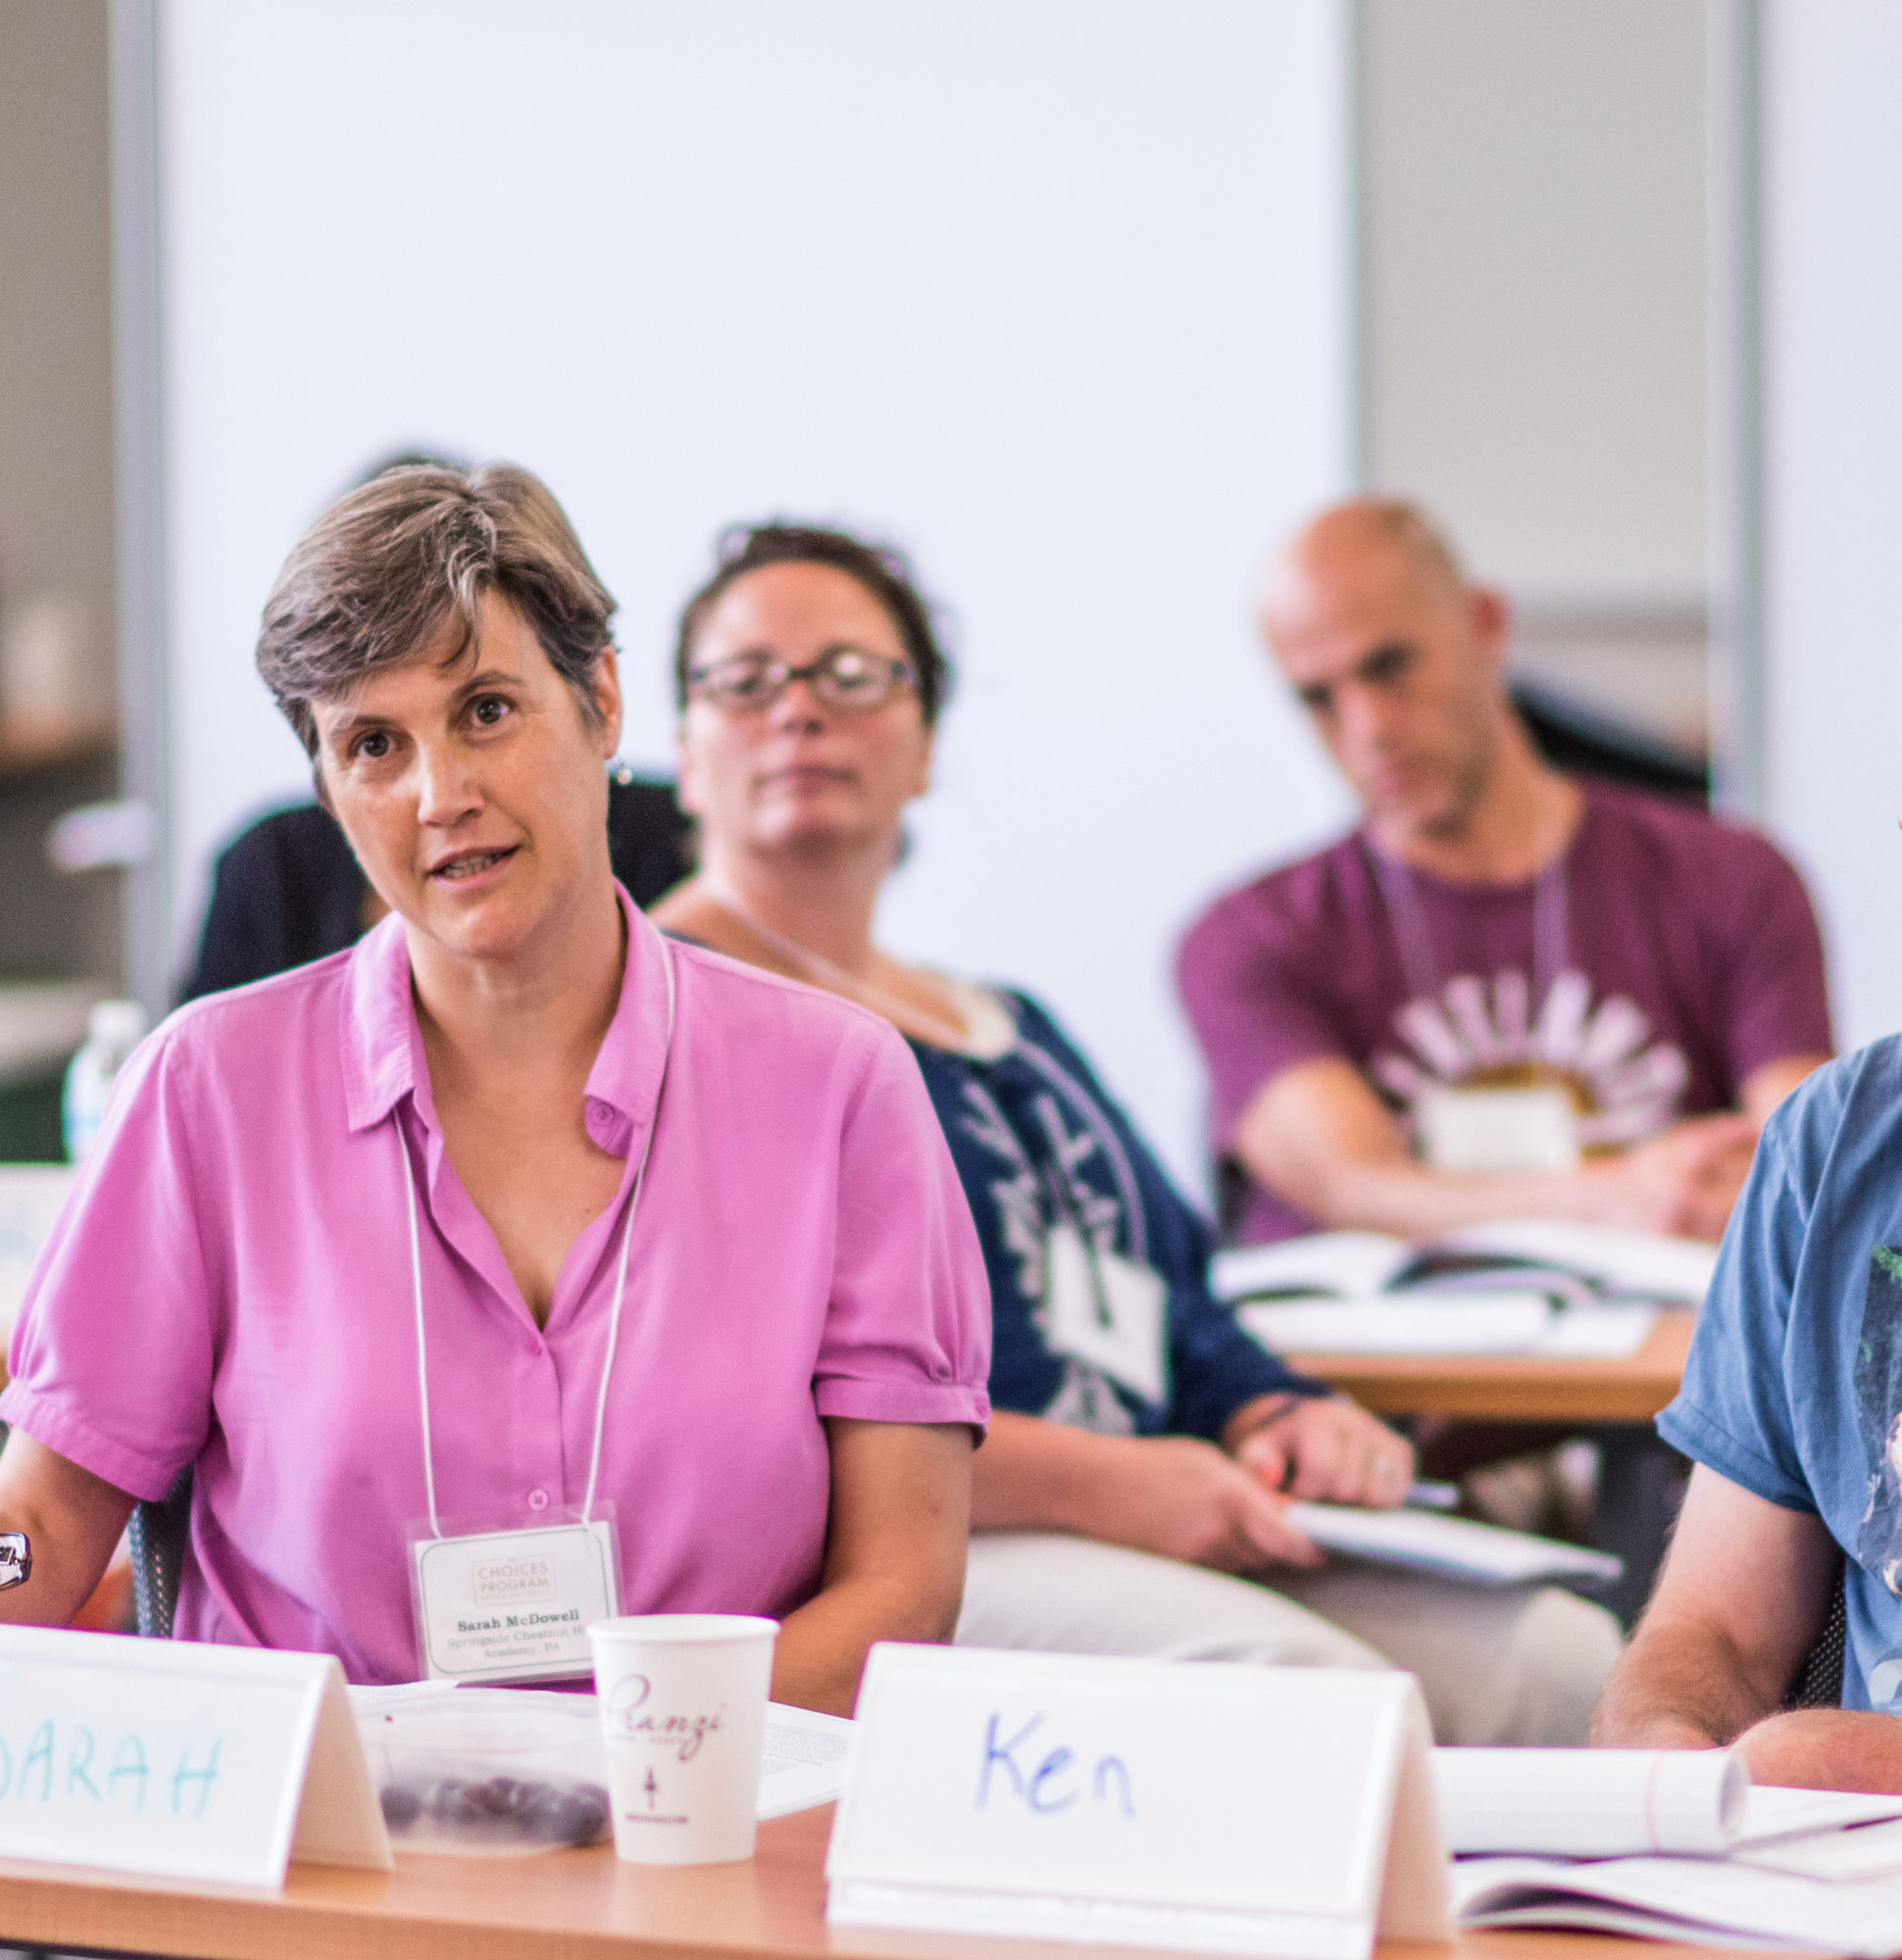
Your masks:
<svg viewBox="0 0 1902 1960"><path fill-rule="evenodd" d="M1322 1552L1286 1523L1286 1499L1265 1490L1214 1443L1118 1439L1116 1456L1106 1456L1104 1470L1102 1515L1116 1521L1104 1537L1118 1544L1216 1572L1324 1562Z"/></svg>

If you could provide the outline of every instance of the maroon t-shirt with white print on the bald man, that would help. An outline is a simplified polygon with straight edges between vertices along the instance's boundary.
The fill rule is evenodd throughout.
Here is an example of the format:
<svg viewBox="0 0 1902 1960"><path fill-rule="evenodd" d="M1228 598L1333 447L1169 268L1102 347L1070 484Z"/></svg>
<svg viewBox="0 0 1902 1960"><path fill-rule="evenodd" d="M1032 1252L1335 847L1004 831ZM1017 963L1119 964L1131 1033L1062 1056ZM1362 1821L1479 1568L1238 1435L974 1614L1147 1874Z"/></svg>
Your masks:
<svg viewBox="0 0 1902 1960"><path fill-rule="evenodd" d="M1765 1062L1829 1053L1824 949L1788 860L1753 831L1608 784L1555 870L1449 884L1365 831L1273 870L1188 929L1176 984L1229 1152L1255 1094L1337 1054L1402 1123L1424 1088L1563 1076L1584 1145L1735 1107ZM1243 1243L1314 1231L1249 1186Z"/></svg>

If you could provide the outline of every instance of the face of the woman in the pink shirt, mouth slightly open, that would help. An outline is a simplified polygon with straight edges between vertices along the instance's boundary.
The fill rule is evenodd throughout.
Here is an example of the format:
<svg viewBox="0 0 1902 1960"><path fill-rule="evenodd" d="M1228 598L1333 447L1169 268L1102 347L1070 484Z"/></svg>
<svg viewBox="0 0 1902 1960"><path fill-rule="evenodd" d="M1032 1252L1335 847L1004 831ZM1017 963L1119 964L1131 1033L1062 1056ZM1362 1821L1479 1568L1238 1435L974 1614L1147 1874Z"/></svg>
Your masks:
<svg viewBox="0 0 1902 1960"><path fill-rule="evenodd" d="M414 661L316 702L318 770L365 876L412 933L518 960L608 890L608 778L622 698L594 674L592 727L533 629L490 592Z"/></svg>

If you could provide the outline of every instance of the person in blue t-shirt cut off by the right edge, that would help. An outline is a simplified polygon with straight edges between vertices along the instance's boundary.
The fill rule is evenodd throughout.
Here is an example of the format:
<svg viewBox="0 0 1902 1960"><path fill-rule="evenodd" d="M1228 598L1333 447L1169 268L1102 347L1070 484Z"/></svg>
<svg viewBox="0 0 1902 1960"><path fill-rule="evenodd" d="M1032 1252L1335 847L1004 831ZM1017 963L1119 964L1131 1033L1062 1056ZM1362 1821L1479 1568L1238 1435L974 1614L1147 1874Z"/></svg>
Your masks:
<svg viewBox="0 0 1902 1960"><path fill-rule="evenodd" d="M1902 1037L1771 1117L1659 1433L1694 1460L1594 1740L1902 1791ZM1786 1707L1841 1607L1837 1707Z"/></svg>

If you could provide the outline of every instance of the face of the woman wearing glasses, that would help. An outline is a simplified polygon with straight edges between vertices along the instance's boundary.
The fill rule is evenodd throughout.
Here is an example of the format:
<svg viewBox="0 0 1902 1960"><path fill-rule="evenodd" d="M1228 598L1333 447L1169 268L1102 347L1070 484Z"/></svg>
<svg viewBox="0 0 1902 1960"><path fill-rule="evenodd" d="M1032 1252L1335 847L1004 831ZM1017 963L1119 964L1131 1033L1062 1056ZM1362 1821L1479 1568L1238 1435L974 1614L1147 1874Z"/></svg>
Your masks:
<svg viewBox="0 0 1902 1960"><path fill-rule="evenodd" d="M890 613L857 578L829 564L765 564L720 594L690 664L771 653L798 668L831 647L906 659ZM880 708L833 708L794 680L757 713L690 698L680 719L680 804L716 849L896 849L904 806L929 778L931 731L910 688Z"/></svg>

